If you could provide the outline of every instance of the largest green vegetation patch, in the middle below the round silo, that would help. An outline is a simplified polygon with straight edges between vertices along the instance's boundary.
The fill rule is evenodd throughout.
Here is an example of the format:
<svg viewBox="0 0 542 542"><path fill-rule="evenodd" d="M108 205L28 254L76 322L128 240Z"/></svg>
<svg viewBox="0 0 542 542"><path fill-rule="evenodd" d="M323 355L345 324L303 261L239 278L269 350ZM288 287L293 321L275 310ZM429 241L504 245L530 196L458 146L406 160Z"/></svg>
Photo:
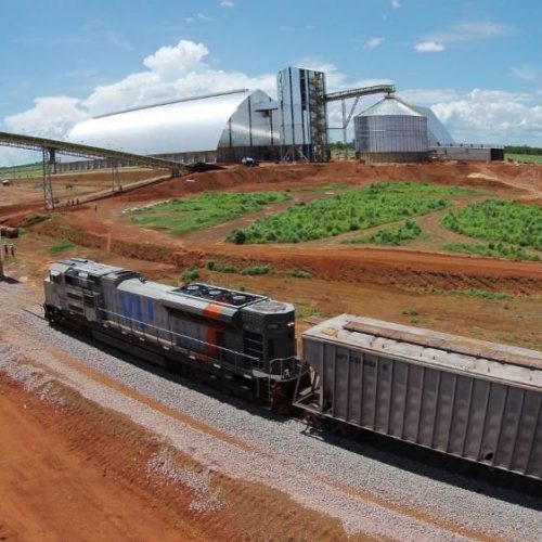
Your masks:
<svg viewBox="0 0 542 542"><path fill-rule="evenodd" d="M299 243L331 237L443 209L449 205L449 197L473 193L428 183L376 183L308 204L297 203L284 212L257 220L243 230L233 230L228 241Z"/></svg>

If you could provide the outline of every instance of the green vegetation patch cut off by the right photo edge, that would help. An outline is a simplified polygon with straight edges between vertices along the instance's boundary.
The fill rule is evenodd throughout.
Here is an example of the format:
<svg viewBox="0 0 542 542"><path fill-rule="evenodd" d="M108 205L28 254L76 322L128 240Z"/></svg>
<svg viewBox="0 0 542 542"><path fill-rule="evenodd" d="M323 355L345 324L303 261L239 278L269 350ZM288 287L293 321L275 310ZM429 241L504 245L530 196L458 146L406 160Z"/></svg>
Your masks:
<svg viewBox="0 0 542 542"><path fill-rule="evenodd" d="M537 205L487 199L452 210L440 222L469 237L542 250L542 207Z"/></svg>

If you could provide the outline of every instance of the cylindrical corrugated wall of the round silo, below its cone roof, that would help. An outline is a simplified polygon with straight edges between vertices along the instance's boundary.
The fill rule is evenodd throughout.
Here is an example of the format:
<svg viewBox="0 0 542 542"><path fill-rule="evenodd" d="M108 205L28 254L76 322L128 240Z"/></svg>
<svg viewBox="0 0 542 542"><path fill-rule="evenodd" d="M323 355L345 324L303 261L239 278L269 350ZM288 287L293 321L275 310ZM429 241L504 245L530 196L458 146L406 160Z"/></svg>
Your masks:
<svg viewBox="0 0 542 542"><path fill-rule="evenodd" d="M356 151L371 153L426 153L427 118L386 115L354 118Z"/></svg>

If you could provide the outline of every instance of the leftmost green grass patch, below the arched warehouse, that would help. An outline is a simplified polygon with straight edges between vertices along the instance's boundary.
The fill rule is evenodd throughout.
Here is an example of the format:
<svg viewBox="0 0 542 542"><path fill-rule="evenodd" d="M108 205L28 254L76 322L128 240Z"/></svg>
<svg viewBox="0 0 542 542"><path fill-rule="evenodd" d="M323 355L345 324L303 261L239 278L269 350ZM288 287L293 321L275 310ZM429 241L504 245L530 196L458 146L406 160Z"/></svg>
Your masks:
<svg viewBox="0 0 542 542"><path fill-rule="evenodd" d="M203 230L260 210L264 205L289 199L282 192L205 192L188 199L172 199L164 204L133 211L131 220L142 227L179 235Z"/></svg>

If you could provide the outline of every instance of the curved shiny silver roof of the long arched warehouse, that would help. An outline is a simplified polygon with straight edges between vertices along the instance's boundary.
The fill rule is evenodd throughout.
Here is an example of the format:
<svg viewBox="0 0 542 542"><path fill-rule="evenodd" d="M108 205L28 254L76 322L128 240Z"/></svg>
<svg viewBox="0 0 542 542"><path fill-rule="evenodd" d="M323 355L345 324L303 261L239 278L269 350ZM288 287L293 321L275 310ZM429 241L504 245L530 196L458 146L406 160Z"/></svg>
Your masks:
<svg viewBox="0 0 542 542"><path fill-rule="evenodd" d="M142 155L216 151L228 121L249 96L269 98L243 90L120 112L76 125L68 140Z"/></svg>

